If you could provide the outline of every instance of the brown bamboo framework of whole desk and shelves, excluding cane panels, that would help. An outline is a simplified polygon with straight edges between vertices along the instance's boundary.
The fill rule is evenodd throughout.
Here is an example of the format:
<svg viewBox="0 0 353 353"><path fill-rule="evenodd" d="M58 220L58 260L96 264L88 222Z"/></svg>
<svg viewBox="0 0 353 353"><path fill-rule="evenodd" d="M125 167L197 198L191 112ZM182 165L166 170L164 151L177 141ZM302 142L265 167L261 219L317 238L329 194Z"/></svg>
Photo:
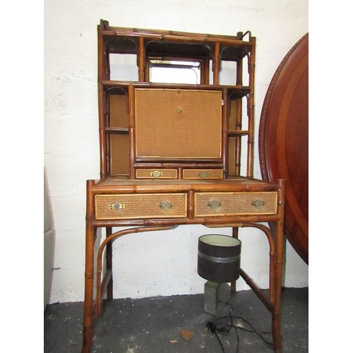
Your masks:
<svg viewBox="0 0 353 353"><path fill-rule="evenodd" d="M109 26L107 21L101 20L97 28L98 31L98 104L100 116L100 181L87 181L87 203L86 203L86 248L85 248L85 303L84 303L84 320L83 320L83 353L89 353L92 346L93 327L96 319L102 311L102 299L113 299L113 253L112 241L123 235L132 236L137 232L150 232L158 230L172 229L177 225L205 225L206 227L232 227L232 236L239 237L239 227L253 227L260 229L268 239L270 247L270 268L269 281L270 293L266 297L255 282L241 269L241 277L253 289L256 295L261 299L263 304L272 314L273 325L273 341L276 353L282 352L280 337L280 303L282 288L282 257L283 257L283 222L284 222L284 201L285 201L285 183L282 180L277 183L268 181L259 181L253 179L253 128L254 128L254 77L255 77L255 46L256 38L249 35L249 41L243 40L244 35L241 32L237 36L225 35L203 35L186 32L171 32L162 30L138 30L132 28L116 28ZM123 53L137 54L138 66L138 82L122 82L109 80L109 52L107 52L107 43L114 39L121 39L119 43L125 45L124 39L128 39L128 44L121 49ZM131 45L131 41L136 45ZM182 59L182 54L186 58L195 58L201 62L201 84L166 84L166 83L150 83L149 81L149 54L148 42L180 43L178 46L182 48L183 44L198 44L196 49L207 47L206 52L212 53L212 57L208 56L201 50L200 56L193 53L176 53L175 47L172 49L169 57L174 55ZM116 52L114 42L109 48ZM237 61L236 85L227 86L220 85L220 68L222 64L222 50L225 47L237 47L240 51L228 51L224 59L233 59ZM184 47L187 47L184 45ZM169 48L169 47L164 47ZM187 47L188 50L190 47ZM241 54L239 54L241 52ZM163 54L166 56L165 54ZM243 86L243 55L249 57L249 86ZM234 57L233 57L234 56ZM209 84L210 78L210 60L213 61L213 85ZM129 126L121 128L117 126L112 128L107 126L109 120L109 108L106 108L105 92L112 88L123 89L127 93ZM136 88L164 88L164 89L186 89L186 90L220 90L222 91L222 143L221 158L217 160L149 160L136 158L136 133L135 133L135 89ZM248 130L242 131L242 100L246 97L248 101L247 116ZM235 116L235 130L229 130L229 109L230 100L236 99L237 114ZM107 114L107 116L106 116ZM110 133L128 133L129 150L130 150L130 175L127 178L113 177L109 175L109 155L110 151L107 146ZM241 165L241 137L247 136L247 160L246 160L246 177L240 177ZM228 139L235 137L235 171L237 176L229 177L228 175ZM178 179L141 180L136 179L136 169L165 169L174 168L177 171ZM223 179L208 180L207 183L198 181L197 179L182 179L184 169L221 169L223 171ZM115 178L115 179L114 179ZM258 195L259 192L272 191L277 193L277 207L273 214L261 214L256 212L243 213L238 215L206 215L203 217L196 216L195 210L195 194L202 193L253 193ZM102 219L97 220L95 217L95 196L114 194L133 194L138 193L184 193L186 195L186 217L149 217L141 219L136 217L119 217L119 219ZM274 201L276 202L276 201ZM144 205L141 205L143 207ZM149 205L145 205L149 207ZM100 207L100 206L97 206ZM245 208L244 208L245 209ZM164 215L163 215L164 216ZM110 217L110 216L109 216ZM116 217L117 218L117 217ZM270 230L261 223L272 222L276 225L275 231ZM97 228L106 228L106 238L100 245L100 249L95 254L95 232ZM125 230L112 232L113 227L129 227ZM106 249L106 270L103 273L102 256ZM97 257L96 257L97 256ZM97 269L94 268L94 260L97 258ZM96 278L95 278L96 275ZM96 281L96 292L94 293L94 282ZM235 292L235 283L232 283L232 291ZM94 298L94 294L96 297Z"/></svg>

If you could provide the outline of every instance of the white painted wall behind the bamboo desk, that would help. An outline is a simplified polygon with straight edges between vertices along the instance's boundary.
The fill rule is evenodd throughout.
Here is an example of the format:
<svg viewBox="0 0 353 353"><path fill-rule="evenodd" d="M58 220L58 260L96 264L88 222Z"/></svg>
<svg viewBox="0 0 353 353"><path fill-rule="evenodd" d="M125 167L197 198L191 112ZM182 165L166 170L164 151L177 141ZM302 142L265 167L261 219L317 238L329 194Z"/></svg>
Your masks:
<svg viewBox="0 0 353 353"><path fill-rule="evenodd" d="M97 25L235 35L251 30L256 48L256 128L273 73L308 32L307 0L61 0L44 2L44 166L56 229L51 302L83 301L85 181L99 178ZM261 178L256 146L255 177ZM196 294L197 239L181 226L114 241L114 296ZM217 230L220 232L220 229ZM222 229L230 234L230 229ZM241 229L241 263L268 287L268 242ZM308 266L287 246L285 285L306 287ZM249 289L243 280L239 289Z"/></svg>

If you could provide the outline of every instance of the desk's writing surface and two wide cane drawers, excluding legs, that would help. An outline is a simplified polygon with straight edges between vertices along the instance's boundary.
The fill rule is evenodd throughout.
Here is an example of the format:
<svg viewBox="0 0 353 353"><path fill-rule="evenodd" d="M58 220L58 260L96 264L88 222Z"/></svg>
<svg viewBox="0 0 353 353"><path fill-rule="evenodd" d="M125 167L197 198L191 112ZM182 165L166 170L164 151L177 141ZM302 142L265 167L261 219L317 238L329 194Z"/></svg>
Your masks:
<svg viewBox="0 0 353 353"><path fill-rule="evenodd" d="M220 224L278 220L280 186L224 180L105 179L88 183L93 225Z"/></svg>

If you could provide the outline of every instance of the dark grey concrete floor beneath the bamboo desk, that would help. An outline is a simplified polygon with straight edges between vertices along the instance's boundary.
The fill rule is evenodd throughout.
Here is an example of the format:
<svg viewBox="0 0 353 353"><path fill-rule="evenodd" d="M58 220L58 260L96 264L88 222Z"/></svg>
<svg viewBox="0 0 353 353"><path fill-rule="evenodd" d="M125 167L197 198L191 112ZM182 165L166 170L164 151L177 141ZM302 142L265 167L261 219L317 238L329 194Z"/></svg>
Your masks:
<svg viewBox="0 0 353 353"><path fill-rule="evenodd" d="M92 353L263 353L273 352L272 335L249 333L271 330L271 316L253 292L237 292L214 316L204 311L204 295L114 299L97 321ZM282 291L283 352L309 352L309 289ZM229 333L206 331L217 319L217 328L230 323ZM239 318L241 317L241 318ZM244 320L245 321L244 321ZM240 326L240 328L239 328ZM186 340L182 331L193 337ZM44 311L44 353L78 353L82 348L83 303L50 304Z"/></svg>

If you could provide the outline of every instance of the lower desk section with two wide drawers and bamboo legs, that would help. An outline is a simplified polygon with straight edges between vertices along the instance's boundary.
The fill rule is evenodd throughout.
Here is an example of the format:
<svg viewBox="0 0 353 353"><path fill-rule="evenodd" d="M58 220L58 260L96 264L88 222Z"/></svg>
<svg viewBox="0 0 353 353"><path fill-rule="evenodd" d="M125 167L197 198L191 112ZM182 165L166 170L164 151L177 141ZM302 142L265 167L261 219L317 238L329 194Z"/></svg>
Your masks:
<svg viewBox="0 0 353 353"><path fill-rule="evenodd" d="M280 308L282 288L284 181L278 184L245 177L223 180L128 180L87 181L85 306L83 353L90 352L93 328L101 313L102 299L113 299L112 241L137 232L172 229L177 225L206 227L256 227L270 245L270 292L265 296L241 270L241 277L272 313L275 352L282 352ZM272 222L276 231L262 225ZM131 226L112 233L112 227ZM107 228L107 238L95 254L95 232ZM233 234L237 237L237 232ZM107 246L107 270L102 274L102 253ZM94 260L97 256L97 269ZM95 273L96 272L96 273ZM94 278L97 292L94 293ZM233 289L234 284L233 284Z"/></svg>

